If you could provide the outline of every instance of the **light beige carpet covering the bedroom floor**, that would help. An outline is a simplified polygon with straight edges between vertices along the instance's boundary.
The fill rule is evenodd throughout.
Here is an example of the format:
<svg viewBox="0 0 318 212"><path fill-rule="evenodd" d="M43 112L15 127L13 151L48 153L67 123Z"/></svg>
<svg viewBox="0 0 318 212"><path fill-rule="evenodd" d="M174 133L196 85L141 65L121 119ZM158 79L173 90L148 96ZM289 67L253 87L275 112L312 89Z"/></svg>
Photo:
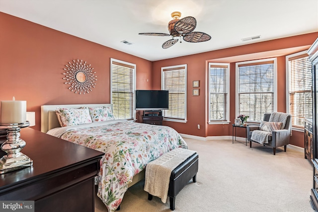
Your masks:
<svg viewBox="0 0 318 212"><path fill-rule="evenodd" d="M176 196L174 212L313 212L313 168L304 152L232 140L185 139L199 154L197 182ZM144 181L126 192L119 212L171 212L158 197L148 200ZM168 198L169 199L169 198ZM95 198L95 212L107 212Z"/></svg>

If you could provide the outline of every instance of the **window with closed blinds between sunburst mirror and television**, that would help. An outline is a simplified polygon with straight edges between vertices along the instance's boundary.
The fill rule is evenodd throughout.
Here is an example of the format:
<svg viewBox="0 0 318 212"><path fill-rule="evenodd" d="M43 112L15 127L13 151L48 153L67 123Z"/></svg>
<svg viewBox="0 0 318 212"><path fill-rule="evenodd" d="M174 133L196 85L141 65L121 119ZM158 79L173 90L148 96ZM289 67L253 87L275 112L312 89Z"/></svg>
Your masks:
<svg viewBox="0 0 318 212"><path fill-rule="evenodd" d="M135 119L135 70L136 65L110 59L111 103L115 119Z"/></svg>

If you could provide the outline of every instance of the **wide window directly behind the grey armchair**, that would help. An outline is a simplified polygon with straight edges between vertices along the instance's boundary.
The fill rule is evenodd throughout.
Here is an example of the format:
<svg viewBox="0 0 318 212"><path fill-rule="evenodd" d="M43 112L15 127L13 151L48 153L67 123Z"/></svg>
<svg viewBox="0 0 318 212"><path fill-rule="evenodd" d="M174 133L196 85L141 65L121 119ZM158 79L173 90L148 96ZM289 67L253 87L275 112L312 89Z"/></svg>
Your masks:
<svg viewBox="0 0 318 212"><path fill-rule="evenodd" d="M236 71L237 116L260 122L264 113L276 111L276 59L237 63Z"/></svg>

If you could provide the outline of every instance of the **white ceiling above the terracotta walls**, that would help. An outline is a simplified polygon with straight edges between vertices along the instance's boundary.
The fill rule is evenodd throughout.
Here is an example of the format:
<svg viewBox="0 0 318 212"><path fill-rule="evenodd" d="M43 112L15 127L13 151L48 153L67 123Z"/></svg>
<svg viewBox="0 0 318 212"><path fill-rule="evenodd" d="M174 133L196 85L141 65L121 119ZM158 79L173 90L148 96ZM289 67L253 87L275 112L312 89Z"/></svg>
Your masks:
<svg viewBox="0 0 318 212"><path fill-rule="evenodd" d="M0 11L149 61L318 31L318 0L0 0ZM169 33L173 11L212 39L162 49L171 37L138 35Z"/></svg>

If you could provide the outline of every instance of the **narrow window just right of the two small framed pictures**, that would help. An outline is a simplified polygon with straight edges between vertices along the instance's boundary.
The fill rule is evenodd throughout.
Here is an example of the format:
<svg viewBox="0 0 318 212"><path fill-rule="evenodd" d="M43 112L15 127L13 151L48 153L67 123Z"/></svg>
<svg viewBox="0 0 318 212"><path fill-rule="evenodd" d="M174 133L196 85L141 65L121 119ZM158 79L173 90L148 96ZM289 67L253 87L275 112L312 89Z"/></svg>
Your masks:
<svg viewBox="0 0 318 212"><path fill-rule="evenodd" d="M229 121L229 64L209 63L209 124Z"/></svg>

